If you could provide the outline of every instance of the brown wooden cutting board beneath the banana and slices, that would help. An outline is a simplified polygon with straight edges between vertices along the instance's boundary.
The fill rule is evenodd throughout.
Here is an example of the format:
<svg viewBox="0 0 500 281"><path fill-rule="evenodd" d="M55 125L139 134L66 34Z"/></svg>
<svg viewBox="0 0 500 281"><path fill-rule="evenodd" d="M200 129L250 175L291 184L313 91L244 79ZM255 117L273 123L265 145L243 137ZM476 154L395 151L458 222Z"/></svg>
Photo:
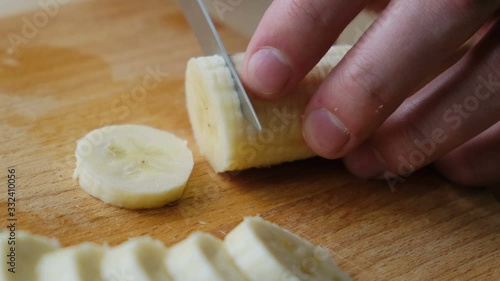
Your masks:
<svg viewBox="0 0 500 281"><path fill-rule="evenodd" d="M319 158L214 173L195 145L184 101L186 62L202 52L175 2L78 1L58 6L47 20L40 11L0 19L5 226L12 167L17 230L56 237L64 246L113 246L141 235L170 246L198 230L223 238L243 217L260 215L328 248L355 280L500 280L500 204L488 191L453 185L430 169L393 188ZM219 29L231 52L245 49L247 39ZM133 98L132 89L151 72L157 87ZM189 141L195 166L179 201L120 209L92 198L72 178L76 140L125 123Z"/></svg>

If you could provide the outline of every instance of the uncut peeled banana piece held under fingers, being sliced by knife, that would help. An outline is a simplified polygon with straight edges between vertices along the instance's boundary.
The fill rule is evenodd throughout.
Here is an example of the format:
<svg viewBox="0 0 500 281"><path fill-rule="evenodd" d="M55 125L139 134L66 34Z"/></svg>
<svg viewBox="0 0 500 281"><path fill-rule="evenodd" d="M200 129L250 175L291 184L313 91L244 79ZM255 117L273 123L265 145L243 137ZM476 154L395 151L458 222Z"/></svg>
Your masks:
<svg viewBox="0 0 500 281"><path fill-rule="evenodd" d="M302 138L301 115L312 94L350 46L333 46L287 97L250 97L262 125L243 116L234 81L220 56L192 58L186 69L186 103L200 153L216 172L243 170L314 156ZM232 56L239 68L243 54Z"/></svg>

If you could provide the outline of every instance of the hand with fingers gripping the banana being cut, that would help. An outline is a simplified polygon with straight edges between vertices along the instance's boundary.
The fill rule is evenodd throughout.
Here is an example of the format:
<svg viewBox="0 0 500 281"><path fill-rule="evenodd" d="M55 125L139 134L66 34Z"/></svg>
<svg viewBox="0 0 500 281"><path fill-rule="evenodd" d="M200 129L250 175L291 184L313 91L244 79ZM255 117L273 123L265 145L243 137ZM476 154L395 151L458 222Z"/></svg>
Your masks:
<svg viewBox="0 0 500 281"><path fill-rule="evenodd" d="M286 95L367 7L380 17L310 100L307 144L361 178L432 164L459 184L499 186L500 0L275 0L243 82L263 99Z"/></svg>

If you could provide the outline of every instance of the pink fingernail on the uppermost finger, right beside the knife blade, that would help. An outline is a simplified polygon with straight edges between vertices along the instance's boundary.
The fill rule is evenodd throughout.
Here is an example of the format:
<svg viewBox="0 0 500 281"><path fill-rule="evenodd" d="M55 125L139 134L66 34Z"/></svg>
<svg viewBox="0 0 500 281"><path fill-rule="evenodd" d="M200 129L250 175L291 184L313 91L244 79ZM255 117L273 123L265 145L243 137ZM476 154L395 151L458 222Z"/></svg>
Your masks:
<svg viewBox="0 0 500 281"><path fill-rule="evenodd" d="M292 68L280 51L264 48L252 55L248 62L249 86L264 95L278 94L285 88Z"/></svg>

